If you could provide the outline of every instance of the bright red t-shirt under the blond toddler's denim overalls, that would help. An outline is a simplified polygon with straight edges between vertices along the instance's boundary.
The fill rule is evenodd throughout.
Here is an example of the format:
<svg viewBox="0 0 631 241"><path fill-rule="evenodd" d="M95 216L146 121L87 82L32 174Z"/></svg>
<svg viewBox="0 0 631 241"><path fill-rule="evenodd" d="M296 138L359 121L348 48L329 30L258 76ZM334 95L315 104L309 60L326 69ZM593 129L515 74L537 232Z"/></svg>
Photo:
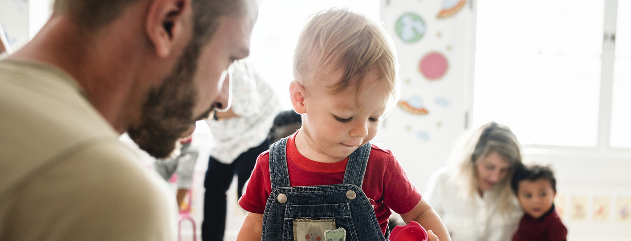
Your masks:
<svg viewBox="0 0 631 241"><path fill-rule="evenodd" d="M341 162L324 163L309 160L298 152L294 138L287 141L287 167L291 186L317 186L341 184L348 158ZM269 150L256 160L256 166L247 184L239 205L251 213L262 214L271 194L269 179ZM421 200L421 194L408 180L396 157L390 150L372 145L370 157L363 177L362 191L375 210L382 232L386 232L387 221L392 211L408 213Z"/></svg>

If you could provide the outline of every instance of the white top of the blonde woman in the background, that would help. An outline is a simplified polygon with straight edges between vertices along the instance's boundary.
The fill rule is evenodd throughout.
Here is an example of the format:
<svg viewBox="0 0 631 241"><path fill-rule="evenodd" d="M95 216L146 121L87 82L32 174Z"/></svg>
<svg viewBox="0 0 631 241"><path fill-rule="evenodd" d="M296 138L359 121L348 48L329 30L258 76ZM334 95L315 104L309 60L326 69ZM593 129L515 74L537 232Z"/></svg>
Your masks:
<svg viewBox="0 0 631 241"><path fill-rule="evenodd" d="M423 199L440 215L451 240L511 240L523 214L521 209L517 208L510 216L502 215L497 201L491 198L491 191L486 191L481 197L475 195L475 202L464 198L461 195L463 191L449 178L451 174L447 170L443 167L432 174Z"/></svg>

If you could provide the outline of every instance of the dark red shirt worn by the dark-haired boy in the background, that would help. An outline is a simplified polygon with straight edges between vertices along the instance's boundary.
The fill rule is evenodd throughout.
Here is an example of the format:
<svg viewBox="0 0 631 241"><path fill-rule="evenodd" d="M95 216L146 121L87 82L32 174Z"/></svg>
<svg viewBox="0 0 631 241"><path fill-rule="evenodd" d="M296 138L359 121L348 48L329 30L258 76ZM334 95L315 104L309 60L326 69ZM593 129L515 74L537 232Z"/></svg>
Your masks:
<svg viewBox="0 0 631 241"><path fill-rule="evenodd" d="M513 241L563 241L567 240L567 228L552 205L550 211L541 218L533 218L526 213L519 221L519 229Z"/></svg>

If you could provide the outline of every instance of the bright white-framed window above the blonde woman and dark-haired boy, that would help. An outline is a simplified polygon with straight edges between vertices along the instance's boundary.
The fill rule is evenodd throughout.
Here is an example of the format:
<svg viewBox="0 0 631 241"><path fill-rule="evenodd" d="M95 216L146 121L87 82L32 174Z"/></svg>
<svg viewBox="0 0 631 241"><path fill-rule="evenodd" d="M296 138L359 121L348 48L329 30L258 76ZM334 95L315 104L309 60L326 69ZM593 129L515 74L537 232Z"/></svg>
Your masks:
<svg viewBox="0 0 631 241"><path fill-rule="evenodd" d="M616 2L479 1L473 126L504 123L534 147L631 147L631 1Z"/></svg>

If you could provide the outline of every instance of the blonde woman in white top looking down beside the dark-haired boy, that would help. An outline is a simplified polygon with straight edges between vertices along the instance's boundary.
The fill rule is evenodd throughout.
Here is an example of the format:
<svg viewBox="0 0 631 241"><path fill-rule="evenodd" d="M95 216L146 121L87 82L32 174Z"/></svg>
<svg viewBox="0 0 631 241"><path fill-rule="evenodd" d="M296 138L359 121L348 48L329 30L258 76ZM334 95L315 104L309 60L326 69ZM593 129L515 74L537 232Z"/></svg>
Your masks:
<svg viewBox="0 0 631 241"><path fill-rule="evenodd" d="M522 211L510 190L521 147L505 125L489 122L456 145L450 165L436 171L423 198L454 241L510 240Z"/></svg>

